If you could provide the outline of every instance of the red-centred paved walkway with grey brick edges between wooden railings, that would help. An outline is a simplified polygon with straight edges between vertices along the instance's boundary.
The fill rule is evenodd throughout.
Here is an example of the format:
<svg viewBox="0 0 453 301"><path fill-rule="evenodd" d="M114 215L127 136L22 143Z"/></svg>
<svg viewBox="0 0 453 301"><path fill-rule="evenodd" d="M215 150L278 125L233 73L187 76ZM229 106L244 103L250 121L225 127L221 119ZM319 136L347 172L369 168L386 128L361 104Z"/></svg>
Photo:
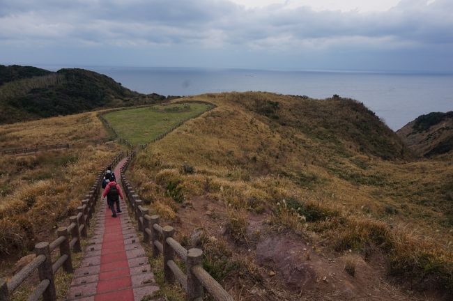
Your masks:
<svg viewBox="0 0 453 301"><path fill-rule="evenodd" d="M119 167L115 176L119 180ZM94 236L68 291L68 300L141 300L159 288L155 284L148 258L130 222L128 208L120 202L122 213L112 217L107 203L100 200Z"/></svg>

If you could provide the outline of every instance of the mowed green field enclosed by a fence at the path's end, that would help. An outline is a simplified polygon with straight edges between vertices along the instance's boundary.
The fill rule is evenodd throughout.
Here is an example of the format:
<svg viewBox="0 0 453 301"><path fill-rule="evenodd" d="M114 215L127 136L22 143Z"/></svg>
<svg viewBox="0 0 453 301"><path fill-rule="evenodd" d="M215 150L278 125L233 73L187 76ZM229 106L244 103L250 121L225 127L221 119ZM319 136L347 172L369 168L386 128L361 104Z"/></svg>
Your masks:
<svg viewBox="0 0 453 301"><path fill-rule="evenodd" d="M198 102L185 104L189 105L188 109L184 104L155 105L113 111L105 114L104 117L114 127L118 137L128 139L132 145L146 144L167 132L176 123L197 116L210 108L210 105Z"/></svg>

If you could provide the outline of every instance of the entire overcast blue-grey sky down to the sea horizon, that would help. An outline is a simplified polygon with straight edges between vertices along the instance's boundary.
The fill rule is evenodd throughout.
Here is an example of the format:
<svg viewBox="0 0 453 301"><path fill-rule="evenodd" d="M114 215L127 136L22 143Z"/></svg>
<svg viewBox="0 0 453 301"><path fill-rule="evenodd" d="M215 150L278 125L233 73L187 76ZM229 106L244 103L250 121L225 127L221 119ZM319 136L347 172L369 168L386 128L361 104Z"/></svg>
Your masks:
<svg viewBox="0 0 453 301"><path fill-rule="evenodd" d="M453 0L0 0L0 63L453 71Z"/></svg>

